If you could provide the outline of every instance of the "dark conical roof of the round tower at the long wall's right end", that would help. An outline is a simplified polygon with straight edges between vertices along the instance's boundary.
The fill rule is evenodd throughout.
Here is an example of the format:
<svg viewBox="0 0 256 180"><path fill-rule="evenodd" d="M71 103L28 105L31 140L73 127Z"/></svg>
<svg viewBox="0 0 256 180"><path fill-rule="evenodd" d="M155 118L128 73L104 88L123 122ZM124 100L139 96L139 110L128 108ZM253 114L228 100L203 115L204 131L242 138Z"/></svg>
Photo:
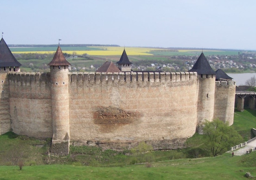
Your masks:
<svg viewBox="0 0 256 180"><path fill-rule="evenodd" d="M197 74L216 74L211 68L208 60L205 58L203 52L197 59L193 68L190 69L188 72L197 72Z"/></svg>

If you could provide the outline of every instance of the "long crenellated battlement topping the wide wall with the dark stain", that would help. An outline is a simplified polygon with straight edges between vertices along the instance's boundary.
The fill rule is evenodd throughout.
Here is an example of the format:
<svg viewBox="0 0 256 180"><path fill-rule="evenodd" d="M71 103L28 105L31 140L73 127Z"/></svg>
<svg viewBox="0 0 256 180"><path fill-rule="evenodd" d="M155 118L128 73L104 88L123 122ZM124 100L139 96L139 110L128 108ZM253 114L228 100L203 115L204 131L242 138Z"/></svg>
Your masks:
<svg viewBox="0 0 256 180"><path fill-rule="evenodd" d="M69 73L69 82L183 82L197 78L196 72Z"/></svg>

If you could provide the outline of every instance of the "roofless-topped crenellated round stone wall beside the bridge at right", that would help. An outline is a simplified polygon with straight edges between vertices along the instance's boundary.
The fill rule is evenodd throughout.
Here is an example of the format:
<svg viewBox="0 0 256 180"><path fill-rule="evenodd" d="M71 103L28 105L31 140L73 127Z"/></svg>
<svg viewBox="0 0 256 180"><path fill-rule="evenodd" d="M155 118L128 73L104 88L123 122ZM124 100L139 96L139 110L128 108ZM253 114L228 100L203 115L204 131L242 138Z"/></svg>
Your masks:
<svg viewBox="0 0 256 180"><path fill-rule="evenodd" d="M236 82L215 82L214 119L233 124Z"/></svg>

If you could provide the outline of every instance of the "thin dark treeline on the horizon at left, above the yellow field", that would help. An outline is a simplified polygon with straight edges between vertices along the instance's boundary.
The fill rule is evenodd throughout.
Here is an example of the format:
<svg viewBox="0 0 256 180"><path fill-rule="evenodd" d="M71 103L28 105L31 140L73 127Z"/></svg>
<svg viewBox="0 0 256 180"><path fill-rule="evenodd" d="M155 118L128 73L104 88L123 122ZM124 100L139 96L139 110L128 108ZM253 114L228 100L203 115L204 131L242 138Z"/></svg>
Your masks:
<svg viewBox="0 0 256 180"><path fill-rule="evenodd" d="M8 44L8 47L57 47L58 44ZM61 44L61 47L87 47L87 46L99 46L99 47L120 47L116 44Z"/></svg>

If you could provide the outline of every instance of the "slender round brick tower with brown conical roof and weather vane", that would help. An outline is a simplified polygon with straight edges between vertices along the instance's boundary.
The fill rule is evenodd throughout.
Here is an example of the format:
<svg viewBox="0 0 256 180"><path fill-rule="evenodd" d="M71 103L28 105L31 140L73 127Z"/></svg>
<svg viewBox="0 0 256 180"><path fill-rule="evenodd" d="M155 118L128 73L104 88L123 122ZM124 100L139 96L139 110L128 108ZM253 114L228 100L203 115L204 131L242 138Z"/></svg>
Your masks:
<svg viewBox="0 0 256 180"><path fill-rule="evenodd" d="M48 64L51 72L51 104L53 121L53 140L51 153L69 154L69 87L68 66L70 63L58 47L53 60Z"/></svg>

